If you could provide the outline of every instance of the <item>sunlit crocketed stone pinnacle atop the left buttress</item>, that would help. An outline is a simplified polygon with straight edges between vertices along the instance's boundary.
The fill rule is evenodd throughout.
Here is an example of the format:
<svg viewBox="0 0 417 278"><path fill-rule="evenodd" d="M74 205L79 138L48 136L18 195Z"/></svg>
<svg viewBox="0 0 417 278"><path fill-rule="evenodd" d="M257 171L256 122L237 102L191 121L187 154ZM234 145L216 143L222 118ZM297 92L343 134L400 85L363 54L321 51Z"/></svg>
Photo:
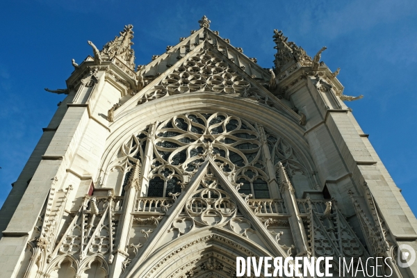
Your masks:
<svg viewBox="0 0 417 278"><path fill-rule="evenodd" d="M131 49L133 42L133 25L125 25L119 37L115 37L111 42L107 42L103 49L100 51L102 60L111 60L117 57L119 60L129 67L131 70L135 70L135 51Z"/></svg>

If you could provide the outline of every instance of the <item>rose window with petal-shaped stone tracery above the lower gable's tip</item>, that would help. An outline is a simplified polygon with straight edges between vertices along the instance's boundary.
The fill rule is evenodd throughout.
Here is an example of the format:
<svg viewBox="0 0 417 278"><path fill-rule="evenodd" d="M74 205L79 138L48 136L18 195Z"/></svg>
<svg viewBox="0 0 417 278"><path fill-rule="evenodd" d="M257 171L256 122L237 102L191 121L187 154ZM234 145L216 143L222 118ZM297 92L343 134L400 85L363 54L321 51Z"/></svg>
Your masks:
<svg viewBox="0 0 417 278"><path fill-rule="evenodd" d="M208 154L224 172L245 167L259 158L258 132L248 122L224 113L187 113L159 124L155 161L195 172Z"/></svg>

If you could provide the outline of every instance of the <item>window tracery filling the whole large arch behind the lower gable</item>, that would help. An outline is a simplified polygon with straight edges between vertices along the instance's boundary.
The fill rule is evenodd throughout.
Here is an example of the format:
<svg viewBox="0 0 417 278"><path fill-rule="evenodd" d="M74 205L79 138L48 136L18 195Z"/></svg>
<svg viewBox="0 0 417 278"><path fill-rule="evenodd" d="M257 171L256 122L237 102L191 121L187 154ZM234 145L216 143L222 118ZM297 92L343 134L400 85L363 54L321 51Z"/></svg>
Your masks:
<svg viewBox="0 0 417 278"><path fill-rule="evenodd" d="M112 172L120 169L124 174L123 188L129 179L131 165L143 161L147 144L152 144L152 161L149 173L149 197L169 197L181 192L183 183L193 177L204 158L213 156L218 166L234 182L243 183L240 192L255 198L269 198L269 175L265 155L272 157L272 167L277 163L286 166L290 178L294 177L295 188L314 188L307 167L293 147L283 138L266 132L263 128L226 113L190 112L174 116L155 126L149 137L149 126L126 141L118 158L108 167L106 179L113 183ZM268 145L265 154L263 144ZM275 165L275 166L274 166ZM269 170L270 171L270 170ZM277 170L276 170L277 171ZM120 183L121 177L118 178ZM122 194L123 195L123 194ZM276 196L277 197L277 196Z"/></svg>

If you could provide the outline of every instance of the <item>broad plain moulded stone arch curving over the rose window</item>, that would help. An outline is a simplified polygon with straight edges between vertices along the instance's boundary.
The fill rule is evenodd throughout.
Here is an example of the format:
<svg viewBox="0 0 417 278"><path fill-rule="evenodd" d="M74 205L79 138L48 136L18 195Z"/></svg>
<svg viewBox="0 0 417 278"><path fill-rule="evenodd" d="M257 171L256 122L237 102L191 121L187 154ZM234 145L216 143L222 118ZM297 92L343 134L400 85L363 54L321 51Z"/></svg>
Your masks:
<svg viewBox="0 0 417 278"><path fill-rule="evenodd" d="M278 111L270 108L260 110L258 104L250 100L206 92L188 93L186 97L183 95L163 97L126 111L122 119L111 126L112 133L107 139L101 168L110 170L109 167L115 159L115 154L120 151L120 146L124 142L130 140L132 133L139 132L148 124L164 122L171 117L195 111L227 113L231 117L240 117L248 122L260 124L286 142L291 142L291 147L303 162L306 173L315 170L302 126L284 117Z"/></svg>

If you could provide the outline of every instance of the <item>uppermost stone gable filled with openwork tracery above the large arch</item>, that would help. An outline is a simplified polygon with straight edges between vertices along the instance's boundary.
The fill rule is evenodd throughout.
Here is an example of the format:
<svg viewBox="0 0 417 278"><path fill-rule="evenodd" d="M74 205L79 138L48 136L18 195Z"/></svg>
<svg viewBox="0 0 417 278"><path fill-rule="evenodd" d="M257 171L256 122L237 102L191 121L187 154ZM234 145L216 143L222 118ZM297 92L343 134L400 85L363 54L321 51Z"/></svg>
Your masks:
<svg viewBox="0 0 417 278"><path fill-rule="evenodd" d="M208 42L199 44L118 108L115 119L138 105L145 105L156 99L181 94L210 93L247 99L266 109L272 109L293 122L299 122L300 116L297 113L232 63L232 60L225 58Z"/></svg>

